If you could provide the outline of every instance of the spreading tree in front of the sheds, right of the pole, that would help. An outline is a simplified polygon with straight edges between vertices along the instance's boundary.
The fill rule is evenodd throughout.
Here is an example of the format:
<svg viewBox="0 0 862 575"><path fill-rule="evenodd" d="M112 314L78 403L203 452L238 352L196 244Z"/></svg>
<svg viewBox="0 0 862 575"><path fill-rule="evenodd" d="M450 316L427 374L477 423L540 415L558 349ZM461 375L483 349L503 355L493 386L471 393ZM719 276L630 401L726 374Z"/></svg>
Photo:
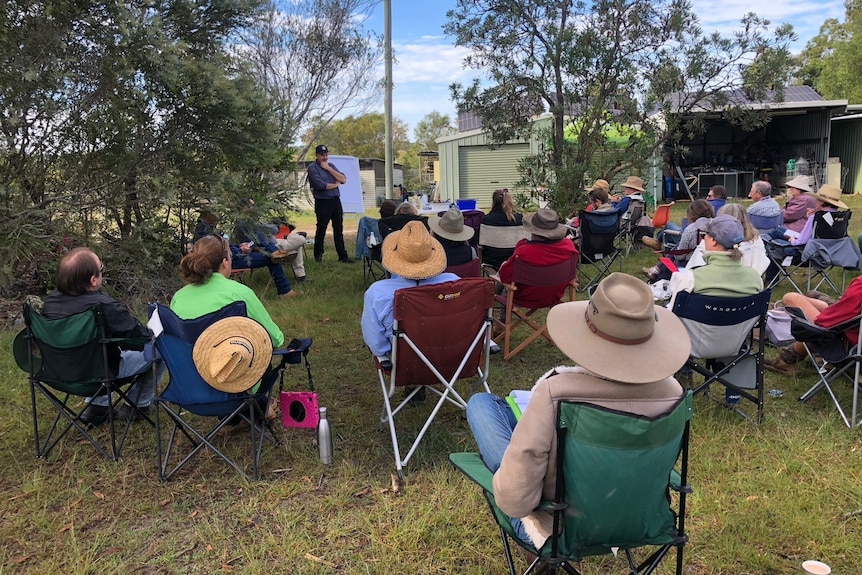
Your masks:
<svg viewBox="0 0 862 575"><path fill-rule="evenodd" d="M484 72L453 84L459 110L477 114L492 141L526 137L550 112L548 152L522 163L524 182L547 185L567 211L584 175L643 165L655 149L702 128L689 112L765 121L729 99L781 98L789 25L748 14L730 37L706 34L686 0L458 0L444 30ZM625 135L620 145L612 137ZM597 158L601 163L593 165Z"/></svg>

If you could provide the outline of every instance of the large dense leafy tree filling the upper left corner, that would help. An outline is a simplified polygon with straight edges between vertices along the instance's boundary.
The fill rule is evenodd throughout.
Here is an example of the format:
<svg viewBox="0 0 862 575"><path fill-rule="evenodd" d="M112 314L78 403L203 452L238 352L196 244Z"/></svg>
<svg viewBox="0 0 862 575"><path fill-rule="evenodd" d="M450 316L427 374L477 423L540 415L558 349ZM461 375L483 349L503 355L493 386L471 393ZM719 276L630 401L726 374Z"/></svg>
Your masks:
<svg viewBox="0 0 862 575"><path fill-rule="evenodd" d="M130 266L173 266L173 206L257 185L260 166L279 161L276 133L265 96L226 46L258 9L255 0L3 4L0 235L13 240L0 242L4 275L20 277L58 240L114 246Z"/></svg>

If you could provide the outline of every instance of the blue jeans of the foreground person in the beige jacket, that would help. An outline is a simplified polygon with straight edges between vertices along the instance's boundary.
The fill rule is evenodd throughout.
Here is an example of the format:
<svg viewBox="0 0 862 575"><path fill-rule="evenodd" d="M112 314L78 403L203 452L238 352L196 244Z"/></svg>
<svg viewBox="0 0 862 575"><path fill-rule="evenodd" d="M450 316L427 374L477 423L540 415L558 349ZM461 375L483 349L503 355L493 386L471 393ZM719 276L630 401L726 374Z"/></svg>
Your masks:
<svg viewBox="0 0 862 575"><path fill-rule="evenodd" d="M505 399L492 393L476 393L467 402L467 423L476 439L482 461L496 473L517 423L512 408ZM518 538L532 545L521 520L509 517L509 521Z"/></svg>

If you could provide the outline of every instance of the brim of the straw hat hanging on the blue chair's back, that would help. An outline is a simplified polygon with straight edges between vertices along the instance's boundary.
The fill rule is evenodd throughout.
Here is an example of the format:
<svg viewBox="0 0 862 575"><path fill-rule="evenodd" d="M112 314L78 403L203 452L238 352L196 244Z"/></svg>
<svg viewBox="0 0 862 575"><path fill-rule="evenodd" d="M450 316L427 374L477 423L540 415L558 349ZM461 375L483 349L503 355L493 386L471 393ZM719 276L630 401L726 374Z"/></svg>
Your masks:
<svg viewBox="0 0 862 575"><path fill-rule="evenodd" d="M254 350L248 369L235 371L224 381L214 377L208 369L218 347L231 338L243 340ZM207 384L226 393L240 393L254 386L272 362L272 339L264 327L245 316L226 317L207 327L195 341L192 360L201 378Z"/></svg>

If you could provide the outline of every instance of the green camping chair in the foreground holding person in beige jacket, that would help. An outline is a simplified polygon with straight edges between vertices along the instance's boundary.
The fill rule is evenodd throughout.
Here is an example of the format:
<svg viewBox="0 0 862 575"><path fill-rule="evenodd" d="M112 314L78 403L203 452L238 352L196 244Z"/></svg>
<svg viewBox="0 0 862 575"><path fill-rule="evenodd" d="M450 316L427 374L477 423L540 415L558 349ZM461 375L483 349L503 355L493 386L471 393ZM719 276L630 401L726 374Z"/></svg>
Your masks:
<svg viewBox="0 0 862 575"><path fill-rule="evenodd" d="M665 415L645 417L588 403L561 401L557 408L556 496L539 509L553 513L552 535L541 547L518 539L494 502L493 474L478 453L453 453L450 461L483 490L500 529L510 575L509 539L538 555L525 575L580 573L573 562L622 550L626 573L653 573L676 548L676 575L683 572L688 485L691 391ZM548 422L549 425L551 422ZM679 464L679 470L674 466ZM670 491L677 492L672 504ZM637 562L637 548L657 546Z"/></svg>

